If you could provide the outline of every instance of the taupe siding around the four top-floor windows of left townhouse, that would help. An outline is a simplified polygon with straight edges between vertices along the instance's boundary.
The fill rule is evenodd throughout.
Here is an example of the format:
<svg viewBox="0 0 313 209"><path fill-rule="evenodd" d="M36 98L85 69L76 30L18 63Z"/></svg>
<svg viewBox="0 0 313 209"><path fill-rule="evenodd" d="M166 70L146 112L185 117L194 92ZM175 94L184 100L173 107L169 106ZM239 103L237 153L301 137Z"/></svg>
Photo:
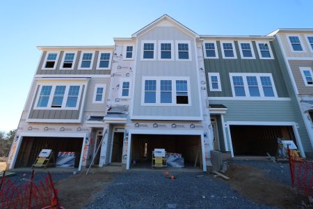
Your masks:
<svg viewBox="0 0 313 209"><path fill-rule="evenodd" d="M93 59L93 69L92 70L77 70L79 67L79 59L81 58L81 51L77 52L76 61L74 63L73 70L60 70L61 61L63 58L64 51L61 51L58 56L58 61L56 63L56 70L42 70L43 65L45 64L45 56L47 51L42 53L42 57L40 59L40 64L38 66L37 75L110 75L111 70L96 70L97 68L97 59L99 55L99 51L95 51L94 59ZM112 55L111 55L112 56Z"/></svg>

